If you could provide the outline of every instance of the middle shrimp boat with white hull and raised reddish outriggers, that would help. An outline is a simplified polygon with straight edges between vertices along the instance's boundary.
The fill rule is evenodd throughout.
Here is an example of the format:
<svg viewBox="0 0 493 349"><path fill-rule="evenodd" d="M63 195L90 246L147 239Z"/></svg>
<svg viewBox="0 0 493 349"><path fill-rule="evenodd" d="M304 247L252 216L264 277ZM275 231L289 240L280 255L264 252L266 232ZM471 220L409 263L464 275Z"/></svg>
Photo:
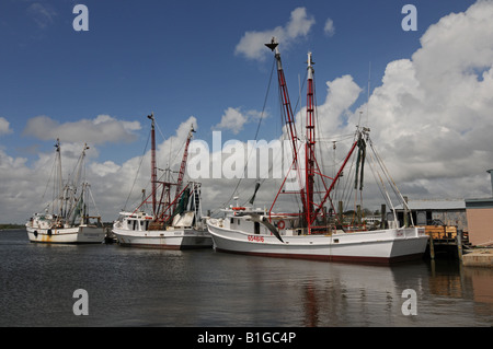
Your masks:
<svg viewBox="0 0 493 349"><path fill-rule="evenodd" d="M113 223L113 233L122 246L163 249L210 248L213 240L202 217L200 183L183 185L188 144L193 126L185 142L183 159L176 183L158 181L156 164L156 133L153 114L151 119L151 185L152 193L142 199L134 211L123 211ZM174 198L171 187L175 186ZM159 196L159 199L158 199ZM152 203L152 213L142 210Z"/></svg>

